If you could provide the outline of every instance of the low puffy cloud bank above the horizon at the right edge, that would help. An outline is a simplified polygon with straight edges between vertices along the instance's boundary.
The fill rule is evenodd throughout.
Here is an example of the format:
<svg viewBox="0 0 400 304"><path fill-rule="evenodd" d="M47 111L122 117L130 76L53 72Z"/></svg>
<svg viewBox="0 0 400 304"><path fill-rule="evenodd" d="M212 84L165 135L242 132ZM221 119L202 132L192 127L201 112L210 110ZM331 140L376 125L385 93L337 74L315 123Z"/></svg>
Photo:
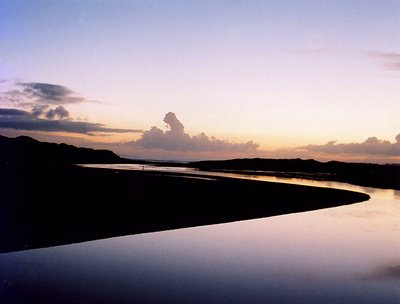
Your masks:
<svg viewBox="0 0 400 304"><path fill-rule="evenodd" d="M395 142L381 140L377 137L369 137L361 143L338 144L330 141L325 145L308 145L300 147L309 152L322 152L328 154L357 154L376 156L400 156L400 134L396 136Z"/></svg>

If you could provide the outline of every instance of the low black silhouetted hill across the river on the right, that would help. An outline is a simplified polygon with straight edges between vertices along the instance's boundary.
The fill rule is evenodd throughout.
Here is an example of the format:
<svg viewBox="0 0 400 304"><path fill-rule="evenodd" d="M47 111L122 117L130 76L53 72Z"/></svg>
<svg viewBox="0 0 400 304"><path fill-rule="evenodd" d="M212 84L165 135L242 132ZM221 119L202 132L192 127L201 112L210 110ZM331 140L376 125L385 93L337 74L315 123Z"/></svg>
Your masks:
<svg viewBox="0 0 400 304"><path fill-rule="evenodd" d="M188 166L209 171L339 181L367 187L400 189L400 166L392 164L253 158L200 161L192 162Z"/></svg>

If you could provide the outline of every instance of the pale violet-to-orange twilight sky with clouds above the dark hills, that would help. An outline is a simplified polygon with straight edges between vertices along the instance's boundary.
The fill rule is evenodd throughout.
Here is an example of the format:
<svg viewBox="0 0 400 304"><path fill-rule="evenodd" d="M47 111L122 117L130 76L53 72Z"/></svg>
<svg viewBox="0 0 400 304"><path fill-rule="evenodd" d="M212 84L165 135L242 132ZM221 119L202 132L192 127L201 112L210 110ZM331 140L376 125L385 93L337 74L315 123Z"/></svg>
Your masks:
<svg viewBox="0 0 400 304"><path fill-rule="evenodd" d="M400 1L0 1L0 134L400 162Z"/></svg>

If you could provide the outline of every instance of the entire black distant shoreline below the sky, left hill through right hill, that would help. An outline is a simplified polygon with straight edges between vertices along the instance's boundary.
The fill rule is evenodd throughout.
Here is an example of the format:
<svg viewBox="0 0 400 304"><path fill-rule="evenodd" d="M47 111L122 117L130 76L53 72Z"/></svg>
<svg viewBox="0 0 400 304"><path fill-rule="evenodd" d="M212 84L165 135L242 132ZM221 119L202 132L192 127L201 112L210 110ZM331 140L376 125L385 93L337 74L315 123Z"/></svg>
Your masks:
<svg viewBox="0 0 400 304"><path fill-rule="evenodd" d="M313 159L243 158L197 162L160 162L121 158L108 150L46 143L27 136L0 135L1 164L151 164L190 167L203 171L257 174L350 183L358 186L400 190L400 164L319 162Z"/></svg>

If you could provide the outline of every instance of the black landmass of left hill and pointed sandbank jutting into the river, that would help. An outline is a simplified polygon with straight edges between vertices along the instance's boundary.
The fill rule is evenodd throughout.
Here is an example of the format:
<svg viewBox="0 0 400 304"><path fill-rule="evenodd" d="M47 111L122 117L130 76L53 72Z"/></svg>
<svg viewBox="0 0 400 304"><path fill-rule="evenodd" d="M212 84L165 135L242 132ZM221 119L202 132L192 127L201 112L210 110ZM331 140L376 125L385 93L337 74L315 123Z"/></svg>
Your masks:
<svg viewBox="0 0 400 304"><path fill-rule="evenodd" d="M367 200L344 190L93 169L110 151L0 136L0 252L302 212Z"/></svg>

